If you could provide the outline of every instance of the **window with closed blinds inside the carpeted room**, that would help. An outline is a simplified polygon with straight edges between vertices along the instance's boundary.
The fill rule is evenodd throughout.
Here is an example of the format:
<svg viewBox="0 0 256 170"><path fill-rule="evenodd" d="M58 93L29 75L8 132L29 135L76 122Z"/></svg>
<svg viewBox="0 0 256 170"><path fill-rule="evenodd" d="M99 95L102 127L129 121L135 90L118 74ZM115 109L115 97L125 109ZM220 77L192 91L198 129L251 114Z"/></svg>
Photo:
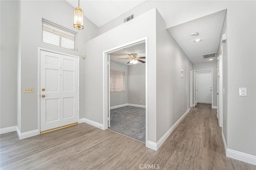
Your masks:
<svg viewBox="0 0 256 170"><path fill-rule="evenodd" d="M110 92L124 92L124 71L110 70Z"/></svg>

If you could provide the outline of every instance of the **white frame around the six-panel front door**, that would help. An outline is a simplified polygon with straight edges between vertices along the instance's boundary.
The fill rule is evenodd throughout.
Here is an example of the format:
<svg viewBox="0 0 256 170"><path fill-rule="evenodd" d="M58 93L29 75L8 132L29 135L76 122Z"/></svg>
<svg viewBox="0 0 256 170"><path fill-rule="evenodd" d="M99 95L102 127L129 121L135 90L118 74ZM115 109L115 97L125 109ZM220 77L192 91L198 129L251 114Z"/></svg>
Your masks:
<svg viewBox="0 0 256 170"><path fill-rule="evenodd" d="M38 47L38 71L37 71L37 81L38 81L38 84L37 84L37 97L38 97L38 100L37 100L37 124L38 124L38 135L40 134L41 132L41 128L40 128L40 99L41 99L41 96L40 96L40 93L41 93L41 90L40 90L40 66L41 66L41 63L40 63L40 51L48 51L50 53L57 53L57 54L61 54L61 55L67 55L67 56L70 56L70 57L77 57L78 58L78 70L77 70L77 86L78 86L78 95L77 95L77 109L78 109L78 120L77 122L79 122L79 119L80 119L80 110L79 110L79 103L80 103L80 100L79 100L79 91L80 91L80 86L79 86L79 67L80 67L80 64L79 64L79 56L76 56L76 55L70 55L70 54L66 54L66 53L61 53L61 52L58 52L58 51L53 51L53 50L49 50L49 49L44 49L44 48L41 48L41 47Z"/></svg>

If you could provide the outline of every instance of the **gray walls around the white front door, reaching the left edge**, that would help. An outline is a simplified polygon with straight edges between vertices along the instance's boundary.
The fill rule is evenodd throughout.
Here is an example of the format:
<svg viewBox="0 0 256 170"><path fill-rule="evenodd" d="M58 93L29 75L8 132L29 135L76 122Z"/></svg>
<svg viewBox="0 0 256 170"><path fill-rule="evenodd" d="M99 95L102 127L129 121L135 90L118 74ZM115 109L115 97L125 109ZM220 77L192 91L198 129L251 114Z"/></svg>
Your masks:
<svg viewBox="0 0 256 170"><path fill-rule="evenodd" d="M5 31L6 35L10 35L8 38L12 44L13 52L9 53L9 59L5 62L6 67L8 67L9 74L2 74L1 66L1 88L3 84L8 84L10 92L4 94L5 105L8 107L9 112L2 112L1 110L1 122L10 122L9 124L3 123L3 127L16 125L16 120L18 115L18 127L21 132L32 131L38 129L38 47L45 49L50 49L54 51L59 51L62 53L67 53L71 55L80 56L84 54L83 44L96 37L98 35L98 27L94 25L87 18L84 18L85 29L75 30L73 28L73 7L70 6L66 1L19 1L18 7L14 5L13 1L1 1L1 21L2 16L6 21L4 24L1 23L1 31ZM3 5L4 4L4 5ZM14 5L14 7L12 7ZM9 7L10 6L10 7ZM61 8L60 8L61 6ZM12 16L7 9L17 8L17 16ZM5 9L7 11L5 11ZM16 11L16 10L14 10ZM2 14L4 12L4 14ZM6 15L8 13L8 15ZM56 15L58 14L58 15ZM60 17L61 16L61 17ZM57 47L54 45L42 43L42 18L50 20L54 23L73 29L78 32L78 49L77 51L72 51L69 49L64 49L62 47ZM8 21L15 21L17 27L6 24ZM13 23L10 23L13 24ZM19 29L18 32L16 29ZM1 34L2 35L2 34ZM4 39L3 39L4 40ZM7 41L7 40L6 40ZM9 41L7 41L9 43ZM12 41L12 42L11 42ZM2 37L1 37L2 42ZM6 42L5 42L6 43ZM2 45L2 43L1 43ZM18 46L18 47L17 47ZM10 46L8 47L10 49ZM10 51L10 50L9 50ZM1 47L2 53L2 47ZM14 56L16 54L16 56ZM1 54L2 55L2 54ZM2 56L1 56L2 59ZM85 60L80 59L80 72L84 70ZM11 63L10 63L11 62ZM18 69L18 70L17 70ZM17 74L18 71L18 74ZM80 74L80 80L84 80L83 74ZM84 81L81 81L84 82ZM11 83L11 84L10 84ZM34 88L34 93L24 94L23 88ZM5 87L6 88L6 87ZM12 92L16 94L16 89L18 89L17 96L10 95ZM84 91L84 84L80 83L80 92ZM7 91L6 91L7 92ZM2 93L2 90L1 90ZM2 94L1 94L2 97ZM80 95L80 110L82 110L84 103L84 96ZM18 101L17 101L18 98ZM17 102L16 102L17 101ZM2 105L1 105L2 106ZM17 107L18 106L18 107ZM18 113L16 113L16 107ZM2 108L1 108L2 109ZM5 107L3 107L5 109ZM12 112L12 113L10 113ZM14 119L15 117L15 119ZM83 112L80 113L80 117L84 117ZM21 123L20 123L21 122ZM2 126L1 126L2 128Z"/></svg>

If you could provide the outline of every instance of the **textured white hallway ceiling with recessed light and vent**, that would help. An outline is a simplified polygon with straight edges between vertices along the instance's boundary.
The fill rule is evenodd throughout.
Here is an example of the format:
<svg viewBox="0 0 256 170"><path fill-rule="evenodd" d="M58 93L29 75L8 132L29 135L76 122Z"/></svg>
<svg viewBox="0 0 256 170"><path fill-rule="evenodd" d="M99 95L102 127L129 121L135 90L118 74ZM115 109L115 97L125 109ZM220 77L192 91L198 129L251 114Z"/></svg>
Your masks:
<svg viewBox="0 0 256 170"><path fill-rule="evenodd" d="M217 57L208 61L209 59L203 59L202 55L217 52L225 15L226 10L222 10L167 30L193 64L216 62ZM199 35L191 36L193 32L198 32ZM195 39L202 41L194 43Z"/></svg>

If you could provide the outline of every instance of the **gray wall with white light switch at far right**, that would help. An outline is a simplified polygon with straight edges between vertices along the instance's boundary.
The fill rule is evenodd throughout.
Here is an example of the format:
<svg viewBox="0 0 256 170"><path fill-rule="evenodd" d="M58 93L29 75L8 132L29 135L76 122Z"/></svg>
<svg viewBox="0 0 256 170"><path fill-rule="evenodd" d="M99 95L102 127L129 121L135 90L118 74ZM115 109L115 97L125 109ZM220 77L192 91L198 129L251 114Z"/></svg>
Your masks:
<svg viewBox="0 0 256 170"><path fill-rule="evenodd" d="M256 155L255 30L256 2L233 1L227 10L227 145L229 149L252 155ZM247 88L247 96L238 95L239 87Z"/></svg>

